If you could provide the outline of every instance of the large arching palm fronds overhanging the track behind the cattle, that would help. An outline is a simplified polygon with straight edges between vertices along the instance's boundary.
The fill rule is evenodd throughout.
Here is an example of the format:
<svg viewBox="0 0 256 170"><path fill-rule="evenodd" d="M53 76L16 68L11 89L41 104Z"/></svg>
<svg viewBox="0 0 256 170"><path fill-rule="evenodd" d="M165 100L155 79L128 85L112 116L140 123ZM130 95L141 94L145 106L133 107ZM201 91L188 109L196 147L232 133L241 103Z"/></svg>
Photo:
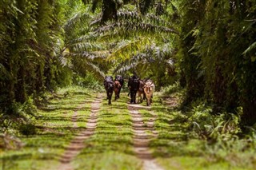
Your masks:
<svg viewBox="0 0 256 170"><path fill-rule="evenodd" d="M120 9L117 11L115 20L108 21L104 25L98 22L100 21L98 15L92 20L87 20L87 25L81 24L84 16L86 15L77 14L69 24L66 24L67 33L68 30L77 32L74 28L83 30L77 34L78 38L66 43L66 48L69 49L67 56L72 57L72 65L80 73L82 69L84 69L83 72L90 69L104 76L101 70L105 70L106 73L108 69L114 69L117 65L127 66L126 60L130 60L130 57L135 55L134 51L143 53L152 40L161 39L158 43L161 44L164 41L167 43L169 40L163 35L178 34L178 30L164 19L154 14L142 15L137 10ZM90 30L86 27L89 26L89 22ZM164 51L167 50L164 49ZM158 56L155 61L162 61L161 57L161 55ZM166 61L164 62L168 63ZM108 66L104 63L108 63ZM142 64L141 61L138 63ZM147 65L147 63L144 64Z"/></svg>

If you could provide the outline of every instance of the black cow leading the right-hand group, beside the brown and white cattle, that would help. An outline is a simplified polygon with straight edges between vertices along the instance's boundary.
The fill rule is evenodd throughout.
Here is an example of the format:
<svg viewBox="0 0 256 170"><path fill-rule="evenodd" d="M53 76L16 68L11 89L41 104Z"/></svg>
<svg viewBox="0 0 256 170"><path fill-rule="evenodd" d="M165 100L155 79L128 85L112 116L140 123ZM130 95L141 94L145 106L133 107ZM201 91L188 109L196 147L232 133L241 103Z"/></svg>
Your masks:
<svg viewBox="0 0 256 170"><path fill-rule="evenodd" d="M130 103L136 103L136 93L139 89L139 79L137 76L132 76L128 81L128 88L130 89Z"/></svg>

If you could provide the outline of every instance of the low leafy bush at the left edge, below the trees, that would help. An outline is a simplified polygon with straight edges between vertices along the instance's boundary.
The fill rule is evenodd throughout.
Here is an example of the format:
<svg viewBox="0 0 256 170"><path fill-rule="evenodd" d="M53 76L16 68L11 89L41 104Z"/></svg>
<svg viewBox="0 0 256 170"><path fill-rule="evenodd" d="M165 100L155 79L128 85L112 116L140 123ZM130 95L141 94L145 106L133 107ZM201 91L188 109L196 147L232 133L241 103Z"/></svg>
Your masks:
<svg viewBox="0 0 256 170"><path fill-rule="evenodd" d="M0 113L0 147L6 149L22 148L24 144L17 137L18 134L36 134L35 117L37 109L31 97L24 103L14 102Z"/></svg>

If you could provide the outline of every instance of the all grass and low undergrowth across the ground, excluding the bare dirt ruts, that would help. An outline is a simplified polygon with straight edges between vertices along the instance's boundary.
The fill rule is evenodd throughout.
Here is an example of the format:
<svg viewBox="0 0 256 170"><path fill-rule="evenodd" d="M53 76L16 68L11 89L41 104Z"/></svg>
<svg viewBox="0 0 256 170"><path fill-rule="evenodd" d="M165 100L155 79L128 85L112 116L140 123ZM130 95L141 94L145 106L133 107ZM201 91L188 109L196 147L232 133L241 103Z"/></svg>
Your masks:
<svg viewBox="0 0 256 170"><path fill-rule="evenodd" d="M242 133L238 125L239 113L214 115L212 107L203 101L194 102L184 111L180 108L184 91L177 85L166 88L168 90L163 93L154 93L151 108L147 108L144 101L141 105L145 107L139 109L144 123L156 119L154 130L158 136L150 141L149 146L158 164L166 169L254 169L254 128L250 127L250 133ZM10 142L13 148L1 148L4 168L58 168L58 159L74 133L86 127L91 102L96 95L98 93L91 93L89 89L74 86L49 95L46 105L33 114L26 114L32 125L27 124L13 132L18 137L10 137L15 139ZM129 98L122 93L118 101L107 105L105 93L101 95L103 101L98 112L97 128L94 135L85 140L85 148L72 162L73 167L141 169L142 161L133 152L134 133L126 105ZM82 109L78 110L81 105ZM19 105L18 108L23 109L17 109L22 115L28 106ZM78 128L73 128L74 122L71 121L74 110L78 114ZM8 125L10 122L5 124L5 132L11 133L12 128L8 128L12 127Z"/></svg>

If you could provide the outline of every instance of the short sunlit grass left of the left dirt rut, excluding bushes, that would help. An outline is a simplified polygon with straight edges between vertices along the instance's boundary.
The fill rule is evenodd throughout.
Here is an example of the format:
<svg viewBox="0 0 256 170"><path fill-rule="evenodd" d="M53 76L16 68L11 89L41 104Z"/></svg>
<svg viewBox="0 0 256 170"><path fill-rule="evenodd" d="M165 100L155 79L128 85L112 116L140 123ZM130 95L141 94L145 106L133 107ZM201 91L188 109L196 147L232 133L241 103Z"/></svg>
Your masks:
<svg viewBox="0 0 256 170"><path fill-rule="evenodd" d="M63 94L69 91L64 97ZM90 102L93 97L86 89L65 89L58 92L58 97L49 101L46 107L38 110L36 121L37 134L18 137L25 146L20 150L1 151L1 168L8 170L57 169L59 157L70 143L79 128L85 128L90 114ZM78 111L78 128L73 128L71 117L79 105L85 103Z"/></svg>

